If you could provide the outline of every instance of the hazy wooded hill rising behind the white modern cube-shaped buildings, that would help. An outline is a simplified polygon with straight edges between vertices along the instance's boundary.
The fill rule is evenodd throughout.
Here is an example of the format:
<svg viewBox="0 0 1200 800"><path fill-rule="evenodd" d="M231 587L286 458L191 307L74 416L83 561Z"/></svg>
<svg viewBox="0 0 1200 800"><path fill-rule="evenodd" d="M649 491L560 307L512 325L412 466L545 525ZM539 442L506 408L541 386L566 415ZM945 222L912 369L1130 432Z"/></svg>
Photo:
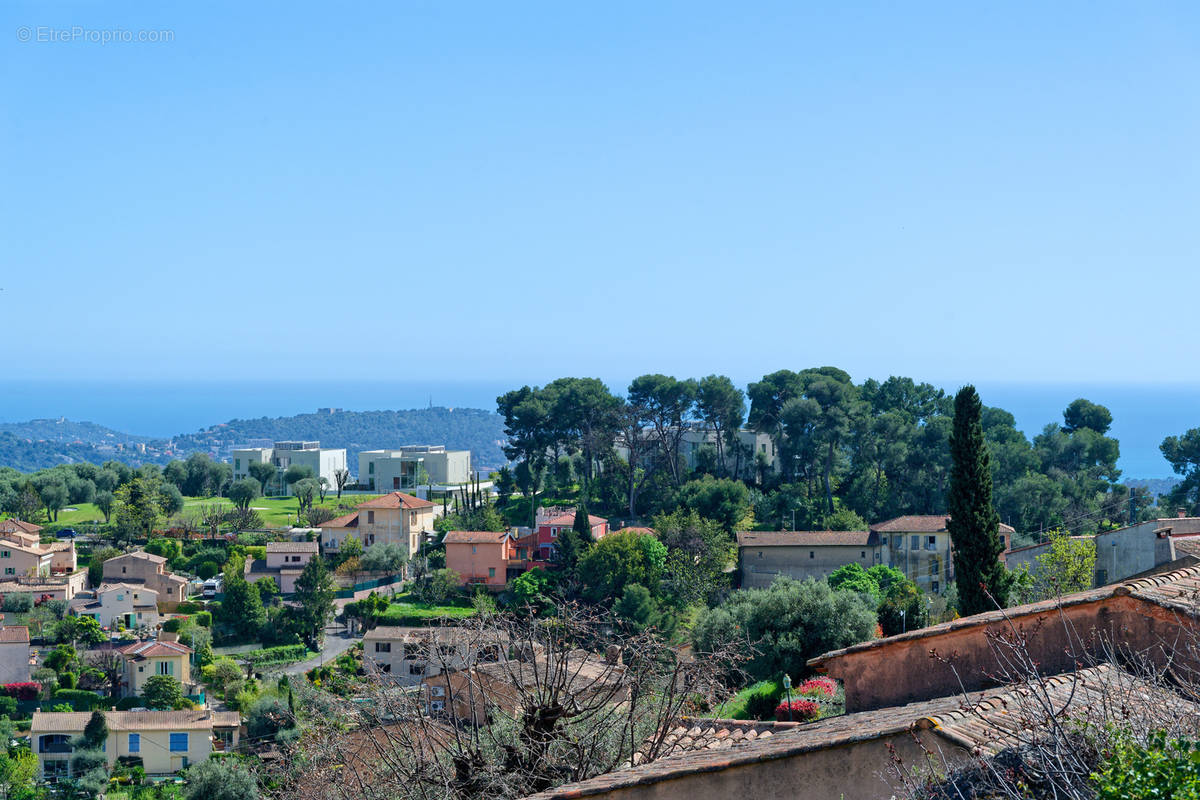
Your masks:
<svg viewBox="0 0 1200 800"><path fill-rule="evenodd" d="M179 452L209 452L228 458L238 445L262 446L289 439L317 439L324 447L346 447L356 471L360 450L433 444L470 450L479 470L506 463L500 450L504 422L499 415L474 408L422 408L401 411L336 411L296 416L230 420L198 433L175 437Z"/></svg>

